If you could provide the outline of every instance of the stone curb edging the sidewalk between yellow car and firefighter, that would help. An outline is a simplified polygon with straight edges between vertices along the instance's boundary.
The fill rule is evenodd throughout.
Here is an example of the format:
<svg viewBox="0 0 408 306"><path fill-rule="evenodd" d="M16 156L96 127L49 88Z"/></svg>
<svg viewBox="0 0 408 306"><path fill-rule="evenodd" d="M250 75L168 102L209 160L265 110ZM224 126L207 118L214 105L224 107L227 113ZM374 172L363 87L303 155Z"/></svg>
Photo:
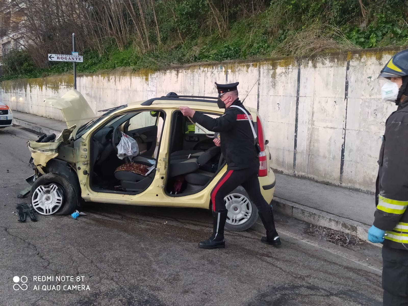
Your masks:
<svg viewBox="0 0 408 306"><path fill-rule="evenodd" d="M339 217L331 213L326 213L324 211L319 211L315 208L310 208L302 204L297 204L287 200L274 197L271 204L273 209L284 215L288 215L298 220L302 220L317 226L324 226L336 231L342 231L357 238L373 244L367 240L367 232L370 226L356 222L350 219ZM375 246L381 247L381 244L373 244Z"/></svg>

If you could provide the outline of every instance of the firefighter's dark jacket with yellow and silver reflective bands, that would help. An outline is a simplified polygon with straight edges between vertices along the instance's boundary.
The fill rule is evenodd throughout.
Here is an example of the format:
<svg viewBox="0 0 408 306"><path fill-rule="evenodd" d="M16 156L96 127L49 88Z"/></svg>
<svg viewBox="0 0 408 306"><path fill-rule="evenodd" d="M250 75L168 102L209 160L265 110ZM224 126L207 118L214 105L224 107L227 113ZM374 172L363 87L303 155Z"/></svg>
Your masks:
<svg viewBox="0 0 408 306"><path fill-rule="evenodd" d="M374 226L385 246L408 249L408 98L386 121L378 164Z"/></svg>

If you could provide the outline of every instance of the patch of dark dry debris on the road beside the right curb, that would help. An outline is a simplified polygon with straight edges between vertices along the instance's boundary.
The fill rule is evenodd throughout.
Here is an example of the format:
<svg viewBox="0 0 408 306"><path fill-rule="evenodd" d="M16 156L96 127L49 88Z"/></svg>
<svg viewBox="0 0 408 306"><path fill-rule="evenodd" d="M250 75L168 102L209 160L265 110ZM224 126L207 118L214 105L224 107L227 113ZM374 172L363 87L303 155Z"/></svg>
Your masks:
<svg viewBox="0 0 408 306"><path fill-rule="evenodd" d="M361 239L353 235L336 231L324 226L312 226L310 224L310 227L305 229L305 233L339 246L356 246L363 243Z"/></svg>

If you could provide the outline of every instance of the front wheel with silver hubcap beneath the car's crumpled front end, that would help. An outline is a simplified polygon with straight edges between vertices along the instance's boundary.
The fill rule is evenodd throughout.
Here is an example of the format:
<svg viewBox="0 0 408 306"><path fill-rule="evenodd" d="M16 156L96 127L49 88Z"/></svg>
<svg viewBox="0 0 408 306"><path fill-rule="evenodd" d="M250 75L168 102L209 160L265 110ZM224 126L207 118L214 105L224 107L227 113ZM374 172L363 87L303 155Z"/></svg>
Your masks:
<svg viewBox="0 0 408 306"><path fill-rule="evenodd" d="M46 173L31 188L31 206L41 215L69 215L77 208L78 197L67 177Z"/></svg>

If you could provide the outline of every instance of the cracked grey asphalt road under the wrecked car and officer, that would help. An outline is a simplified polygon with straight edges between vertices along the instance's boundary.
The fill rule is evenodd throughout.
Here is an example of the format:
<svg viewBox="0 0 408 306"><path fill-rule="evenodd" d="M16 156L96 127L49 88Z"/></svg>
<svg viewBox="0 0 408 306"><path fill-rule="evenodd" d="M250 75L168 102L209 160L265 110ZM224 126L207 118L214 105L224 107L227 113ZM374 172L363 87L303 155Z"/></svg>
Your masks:
<svg viewBox="0 0 408 306"><path fill-rule="evenodd" d="M249 230L227 232L224 250L197 248L211 231L209 212L197 209L95 203L77 220L19 223L16 204L29 198L16 195L33 173L25 143L35 137L0 130L1 306L381 305L379 248L335 246L282 215L281 248Z"/></svg>

